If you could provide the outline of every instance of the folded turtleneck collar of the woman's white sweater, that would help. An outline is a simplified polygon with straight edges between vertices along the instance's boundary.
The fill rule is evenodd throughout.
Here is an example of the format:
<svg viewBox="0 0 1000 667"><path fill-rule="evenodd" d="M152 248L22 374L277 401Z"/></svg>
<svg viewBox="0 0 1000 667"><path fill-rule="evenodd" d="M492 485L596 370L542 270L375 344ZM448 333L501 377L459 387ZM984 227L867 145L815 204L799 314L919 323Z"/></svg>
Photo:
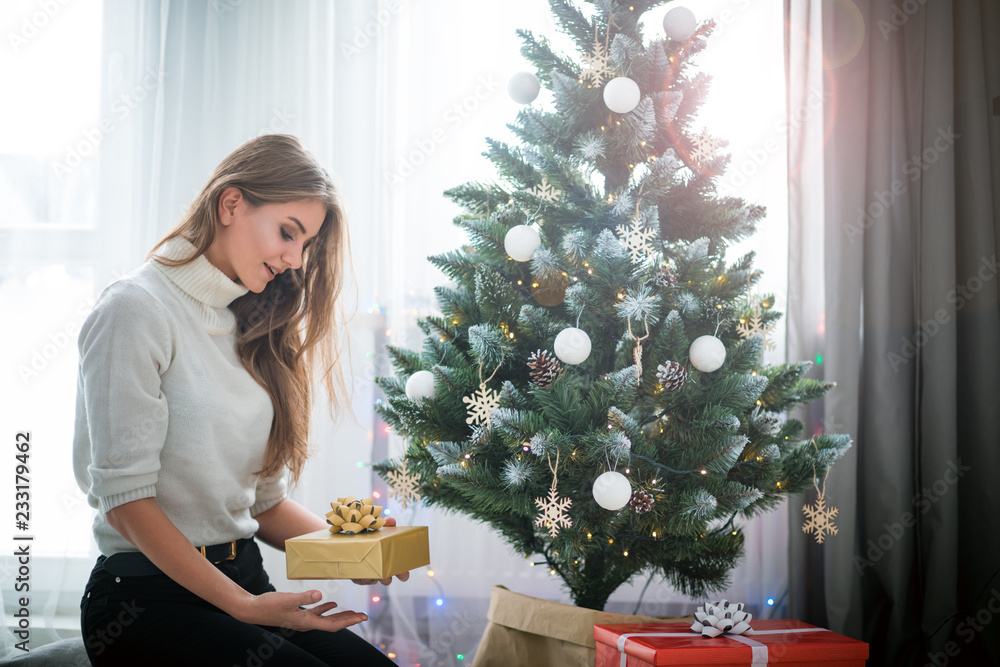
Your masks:
<svg viewBox="0 0 1000 667"><path fill-rule="evenodd" d="M156 255L167 259L186 259L195 252L194 244L183 236L175 236L160 246ZM165 266L155 259L150 263L180 289L209 335L221 336L232 332L236 316L228 306L249 292L249 288L230 280L205 255L182 266Z"/></svg>

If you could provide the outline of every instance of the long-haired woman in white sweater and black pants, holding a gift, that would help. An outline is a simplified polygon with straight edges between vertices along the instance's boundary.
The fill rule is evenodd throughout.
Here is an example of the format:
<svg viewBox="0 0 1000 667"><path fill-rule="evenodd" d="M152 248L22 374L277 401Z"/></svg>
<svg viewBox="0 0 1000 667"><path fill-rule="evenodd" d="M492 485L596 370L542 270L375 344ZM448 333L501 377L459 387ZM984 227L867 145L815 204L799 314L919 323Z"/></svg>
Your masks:
<svg viewBox="0 0 1000 667"><path fill-rule="evenodd" d="M314 369L332 404L343 389L346 246L330 177L294 137L265 135L98 299L80 331L73 449L99 509L81 601L95 665L392 664L346 629L364 614L274 592L253 539L284 550L327 526L285 478L307 456Z"/></svg>

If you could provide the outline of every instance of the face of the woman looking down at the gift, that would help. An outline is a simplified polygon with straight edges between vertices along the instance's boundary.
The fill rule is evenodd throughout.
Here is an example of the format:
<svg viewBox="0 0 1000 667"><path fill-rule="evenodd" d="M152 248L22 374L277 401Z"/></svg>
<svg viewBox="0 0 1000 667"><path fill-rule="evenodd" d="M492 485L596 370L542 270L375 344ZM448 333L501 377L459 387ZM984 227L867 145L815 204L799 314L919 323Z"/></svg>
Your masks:
<svg viewBox="0 0 1000 667"><path fill-rule="evenodd" d="M219 198L222 227L205 256L230 280L260 293L277 274L302 266L302 248L325 217L317 199L253 207L237 188L227 188Z"/></svg>

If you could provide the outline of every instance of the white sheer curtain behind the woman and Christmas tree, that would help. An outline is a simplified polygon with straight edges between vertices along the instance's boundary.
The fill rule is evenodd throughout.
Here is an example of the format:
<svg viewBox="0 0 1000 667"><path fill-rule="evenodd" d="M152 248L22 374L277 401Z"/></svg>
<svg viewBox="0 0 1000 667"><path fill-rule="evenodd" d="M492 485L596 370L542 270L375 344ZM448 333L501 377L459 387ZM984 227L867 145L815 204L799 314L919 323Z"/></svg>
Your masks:
<svg viewBox="0 0 1000 667"><path fill-rule="evenodd" d="M786 290L780 258L787 243L784 134L778 129L781 5L765 4L773 11L749 9L737 0L705 2L696 11L700 20L719 22L718 36L701 62L716 78L704 126L731 142L733 167L723 183L727 194L769 207L758 237L740 250L762 251L763 289L777 293L781 306ZM660 29L662 17L652 14L650 34ZM113 119L114 129L102 138L94 161L99 166L96 222L86 241L92 251L86 298L141 263L218 161L256 134L300 137L347 199L355 276L348 310L357 312L349 325L354 411L353 418L334 424L321 404L314 409L315 454L294 496L317 513L327 511L338 495L375 489L385 497L385 485L369 465L398 455L404 444L385 433L374 414L373 380L390 372L385 344L419 348L422 334L415 323L436 311L432 289L445 279L426 257L466 241L451 223L459 210L442 192L468 180L493 178L480 155L485 138L510 138L505 124L514 119L517 105L506 94L506 81L526 68L517 28L570 48L560 46L564 42L546 3L532 0L502 5L458 0L104 4L100 118ZM767 30L773 40L762 39ZM742 57L761 43L774 44L775 53L754 62ZM734 89L737 85L743 87ZM750 105L755 111L745 108L751 96L757 100ZM768 107L765 99L777 102ZM544 92L538 103L546 103ZM772 141L779 142L777 148L772 149ZM769 183L777 183L778 190L769 191ZM20 234L8 231L7 240L24 238ZM44 264L45 252L39 253L37 261ZM6 262L8 255L3 257ZM60 261L52 256L49 263ZM782 337L779 348L768 353L769 361L783 359ZM71 365L74 355L73 349L66 353ZM54 419L71 428L71 406L60 408ZM53 447L63 448L58 456L68 469L68 439ZM78 495L73 489L65 493ZM400 511L391 500L386 504L401 523L430 527L434 576L420 570L410 582L388 588L319 587L342 608L367 611L371 620L359 631L396 653L400 664L428 664L431 658L436 658L431 664L452 664L458 655L471 657L493 584L568 601L543 568L515 558L500 539L467 517L419 505ZM84 526L85 535L87 508L77 505L73 511L80 514L73 515L74 521ZM746 558L726 591L765 613L768 598L780 608L786 588L783 512L745 528ZM59 541L57 535L53 539ZM62 604L70 611L96 557L93 545L88 552L76 542L77 551L57 561L75 567L71 574L62 567L42 575L62 591ZM316 585L285 580L283 554L267 550L265 562L279 589ZM621 589L609 610L631 612L643 584ZM643 600L641 613L646 614L686 613L694 607L656 583Z"/></svg>

